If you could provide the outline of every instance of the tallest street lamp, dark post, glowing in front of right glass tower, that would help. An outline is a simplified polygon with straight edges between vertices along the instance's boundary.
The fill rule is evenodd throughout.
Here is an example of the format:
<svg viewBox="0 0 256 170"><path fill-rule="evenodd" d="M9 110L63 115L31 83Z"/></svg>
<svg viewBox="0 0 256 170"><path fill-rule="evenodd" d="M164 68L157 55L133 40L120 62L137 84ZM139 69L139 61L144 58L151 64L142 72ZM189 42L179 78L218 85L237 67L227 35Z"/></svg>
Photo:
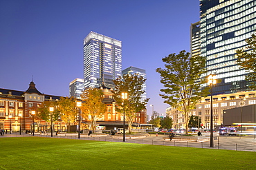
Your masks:
<svg viewBox="0 0 256 170"><path fill-rule="evenodd" d="M214 147L213 143L213 121L212 121L212 86L216 84L214 75L208 77L208 85L210 85L210 147Z"/></svg>

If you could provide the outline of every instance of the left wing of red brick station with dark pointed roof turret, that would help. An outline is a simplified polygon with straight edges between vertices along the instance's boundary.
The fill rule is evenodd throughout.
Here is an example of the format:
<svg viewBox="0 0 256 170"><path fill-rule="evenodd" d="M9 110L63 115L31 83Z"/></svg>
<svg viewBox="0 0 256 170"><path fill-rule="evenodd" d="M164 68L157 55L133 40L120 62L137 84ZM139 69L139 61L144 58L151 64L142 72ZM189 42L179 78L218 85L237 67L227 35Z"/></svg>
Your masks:
<svg viewBox="0 0 256 170"><path fill-rule="evenodd" d="M59 100L60 96L45 95L39 92L33 81L30 82L25 92L0 89L0 128L5 131L31 131L33 129L32 113L42 102ZM35 123L35 131L46 131L48 123L42 120ZM58 130L64 123L55 123L54 129Z"/></svg>

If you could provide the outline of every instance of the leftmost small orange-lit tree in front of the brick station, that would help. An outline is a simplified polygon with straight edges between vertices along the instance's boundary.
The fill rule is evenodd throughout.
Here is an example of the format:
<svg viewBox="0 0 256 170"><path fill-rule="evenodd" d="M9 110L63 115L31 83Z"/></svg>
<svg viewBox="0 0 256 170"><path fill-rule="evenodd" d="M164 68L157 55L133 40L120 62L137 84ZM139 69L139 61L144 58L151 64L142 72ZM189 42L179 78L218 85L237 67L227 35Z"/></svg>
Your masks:
<svg viewBox="0 0 256 170"><path fill-rule="evenodd" d="M50 107L54 107L53 111L50 111ZM51 123L51 129L53 129L53 122L60 117L60 111L57 109L57 102L44 101L38 108L39 117L45 120L47 123ZM53 136L53 134L52 134Z"/></svg>

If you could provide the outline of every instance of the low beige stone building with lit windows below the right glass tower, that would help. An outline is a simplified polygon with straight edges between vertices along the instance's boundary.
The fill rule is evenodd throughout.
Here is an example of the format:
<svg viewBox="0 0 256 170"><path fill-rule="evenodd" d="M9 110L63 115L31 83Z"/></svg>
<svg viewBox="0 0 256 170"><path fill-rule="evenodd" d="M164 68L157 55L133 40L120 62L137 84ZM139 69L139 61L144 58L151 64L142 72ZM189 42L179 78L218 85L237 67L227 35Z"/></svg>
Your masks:
<svg viewBox="0 0 256 170"><path fill-rule="evenodd" d="M214 127L223 124L223 113L226 109L244 107L256 104L256 91L237 92L233 94L219 94L212 96L212 113ZM201 98L201 101L196 104L196 109L190 113L194 116L200 116L203 128L210 129L210 96ZM185 120L183 114L177 109L168 107L166 115L174 121L174 128L185 128Z"/></svg>

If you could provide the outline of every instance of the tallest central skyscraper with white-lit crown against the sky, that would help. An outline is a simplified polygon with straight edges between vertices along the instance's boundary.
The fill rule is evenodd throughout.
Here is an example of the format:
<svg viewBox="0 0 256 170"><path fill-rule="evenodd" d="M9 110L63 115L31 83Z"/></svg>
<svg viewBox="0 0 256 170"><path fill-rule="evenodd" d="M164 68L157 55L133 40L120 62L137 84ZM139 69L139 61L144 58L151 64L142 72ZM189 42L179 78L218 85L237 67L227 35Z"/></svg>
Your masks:
<svg viewBox="0 0 256 170"><path fill-rule="evenodd" d="M84 88L113 87L122 73L122 42L90 32L84 39Z"/></svg>

